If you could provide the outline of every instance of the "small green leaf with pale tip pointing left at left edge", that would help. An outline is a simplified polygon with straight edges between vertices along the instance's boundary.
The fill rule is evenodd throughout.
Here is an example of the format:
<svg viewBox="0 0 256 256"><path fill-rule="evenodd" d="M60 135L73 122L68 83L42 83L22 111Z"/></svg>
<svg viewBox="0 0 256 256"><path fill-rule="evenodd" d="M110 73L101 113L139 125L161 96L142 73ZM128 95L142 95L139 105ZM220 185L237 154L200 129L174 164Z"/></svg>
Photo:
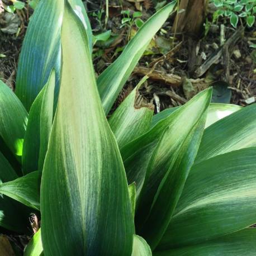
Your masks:
<svg viewBox="0 0 256 256"><path fill-rule="evenodd" d="M31 172L26 176L0 184L0 193L23 205L40 210L41 173Z"/></svg>

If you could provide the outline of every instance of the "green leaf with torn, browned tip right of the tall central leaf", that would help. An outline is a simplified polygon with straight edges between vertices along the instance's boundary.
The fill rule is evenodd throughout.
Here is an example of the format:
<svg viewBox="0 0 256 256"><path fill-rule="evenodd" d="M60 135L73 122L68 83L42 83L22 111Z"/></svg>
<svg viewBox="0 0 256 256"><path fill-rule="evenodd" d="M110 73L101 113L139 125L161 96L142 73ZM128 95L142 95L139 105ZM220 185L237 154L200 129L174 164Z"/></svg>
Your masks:
<svg viewBox="0 0 256 256"><path fill-rule="evenodd" d="M139 88L147 78L140 81L108 120L119 148L143 135L150 128L154 105L144 103L139 95Z"/></svg>

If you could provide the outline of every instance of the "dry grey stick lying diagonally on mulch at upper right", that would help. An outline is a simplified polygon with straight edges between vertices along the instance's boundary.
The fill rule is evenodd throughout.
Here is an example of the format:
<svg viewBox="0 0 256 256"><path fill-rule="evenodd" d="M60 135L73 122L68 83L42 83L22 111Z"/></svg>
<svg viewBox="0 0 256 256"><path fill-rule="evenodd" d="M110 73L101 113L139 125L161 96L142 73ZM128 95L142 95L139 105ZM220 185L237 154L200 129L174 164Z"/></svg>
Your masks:
<svg viewBox="0 0 256 256"><path fill-rule="evenodd" d="M212 64L215 64L220 61L221 56L223 55L223 51L225 47L230 48L231 45L234 45L239 38L243 35L244 27L240 27L235 33L227 39L225 44L215 53L213 53L196 71L196 77L201 77L205 72L211 67Z"/></svg>

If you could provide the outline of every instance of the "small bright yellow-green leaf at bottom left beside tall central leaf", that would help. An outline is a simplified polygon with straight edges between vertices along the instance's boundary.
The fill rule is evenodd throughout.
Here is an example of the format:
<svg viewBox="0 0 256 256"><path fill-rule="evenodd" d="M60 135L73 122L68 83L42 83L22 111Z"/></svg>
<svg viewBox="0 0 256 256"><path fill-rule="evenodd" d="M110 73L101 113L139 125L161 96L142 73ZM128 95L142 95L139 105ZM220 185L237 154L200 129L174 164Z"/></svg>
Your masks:
<svg viewBox="0 0 256 256"><path fill-rule="evenodd" d="M27 244L24 256L42 256L42 250L41 229L39 229Z"/></svg>

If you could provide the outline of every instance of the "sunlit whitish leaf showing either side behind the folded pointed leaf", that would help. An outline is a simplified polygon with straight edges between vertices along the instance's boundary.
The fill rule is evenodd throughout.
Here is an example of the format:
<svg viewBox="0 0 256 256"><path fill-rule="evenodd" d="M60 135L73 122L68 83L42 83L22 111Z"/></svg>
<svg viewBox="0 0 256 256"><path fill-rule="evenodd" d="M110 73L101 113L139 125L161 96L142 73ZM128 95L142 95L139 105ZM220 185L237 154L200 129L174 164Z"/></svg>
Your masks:
<svg viewBox="0 0 256 256"><path fill-rule="evenodd" d="M157 124L163 118L169 116L172 112L176 111L179 107L167 108L157 115L154 115L151 122L151 127ZM208 115L206 118L205 128L221 120L222 118L231 115L232 113L240 110L241 106L224 103L211 103L208 108Z"/></svg>

